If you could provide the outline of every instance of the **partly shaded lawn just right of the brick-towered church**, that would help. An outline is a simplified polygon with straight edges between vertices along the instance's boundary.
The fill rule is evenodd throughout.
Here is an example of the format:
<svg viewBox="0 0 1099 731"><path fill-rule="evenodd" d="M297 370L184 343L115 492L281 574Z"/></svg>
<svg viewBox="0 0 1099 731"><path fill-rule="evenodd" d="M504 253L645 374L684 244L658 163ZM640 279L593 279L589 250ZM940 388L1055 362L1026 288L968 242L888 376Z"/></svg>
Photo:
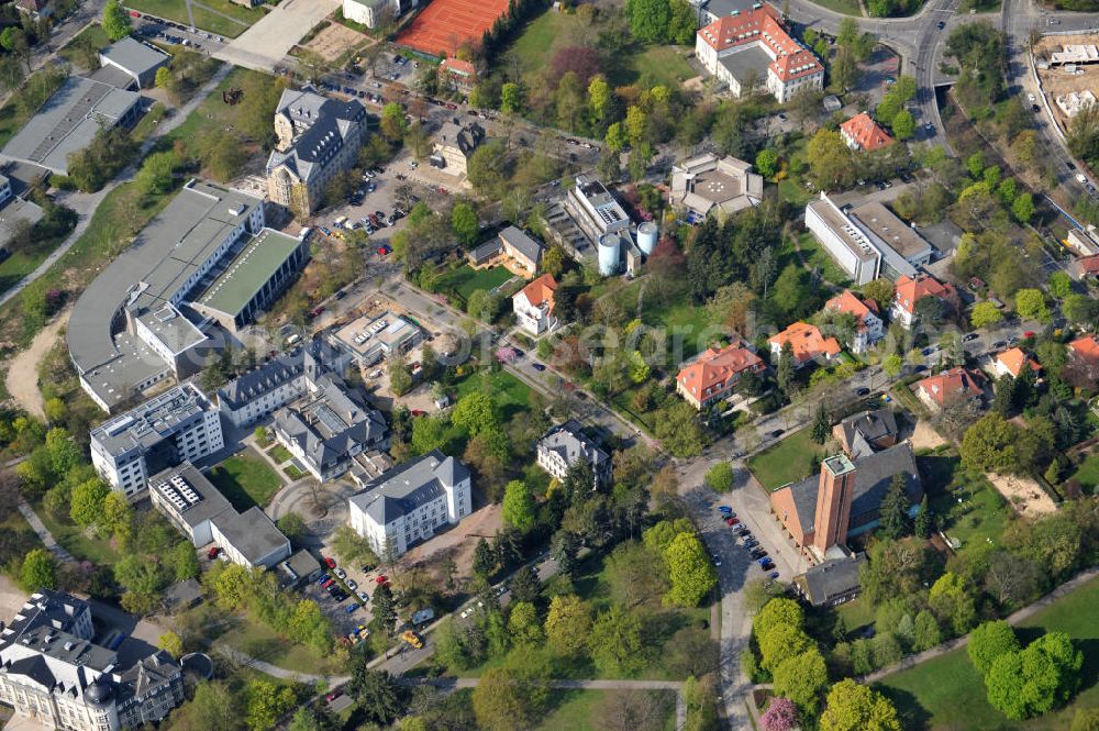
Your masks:
<svg viewBox="0 0 1099 731"><path fill-rule="evenodd" d="M962 469L950 453L919 457L918 464L931 508L948 536L963 549L999 540L1014 511L984 475Z"/></svg>

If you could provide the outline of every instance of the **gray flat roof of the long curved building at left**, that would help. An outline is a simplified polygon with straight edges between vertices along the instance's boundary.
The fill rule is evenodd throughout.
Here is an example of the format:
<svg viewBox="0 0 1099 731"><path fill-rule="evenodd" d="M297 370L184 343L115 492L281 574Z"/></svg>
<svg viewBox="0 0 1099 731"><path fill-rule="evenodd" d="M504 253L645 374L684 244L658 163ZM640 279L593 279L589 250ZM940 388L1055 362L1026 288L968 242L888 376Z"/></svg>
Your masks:
<svg viewBox="0 0 1099 731"><path fill-rule="evenodd" d="M114 334L121 330L115 317L130 300L131 290L144 285L133 304L144 310L160 309L258 204L259 199L243 192L192 180L88 285L73 309L66 339L73 363L97 392L106 394L97 385L100 376L124 387L127 380L140 383L142 378L136 376L142 373L164 368L158 356L143 352L140 341L133 343L135 339L129 334ZM126 372L134 361L146 355L154 359L134 370L131 379ZM111 373L106 372L108 365ZM97 369L104 372L93 373ZM92 375L96 377L89 377ZM121 398L126 396L129 392Z"/></svg>

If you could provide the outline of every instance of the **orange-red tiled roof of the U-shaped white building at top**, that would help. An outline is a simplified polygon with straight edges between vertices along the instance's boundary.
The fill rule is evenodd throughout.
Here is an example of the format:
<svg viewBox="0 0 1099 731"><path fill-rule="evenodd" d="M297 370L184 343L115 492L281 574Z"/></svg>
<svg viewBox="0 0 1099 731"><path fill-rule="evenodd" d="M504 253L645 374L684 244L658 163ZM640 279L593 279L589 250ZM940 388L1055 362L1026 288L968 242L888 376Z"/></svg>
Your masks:
<svg viewBox="0 0 1099 731"><path fill-rule="evenodd" d="M719 18L699 29L698 34L718 53L758 43L773 57L770 69L782 81L824 70L817 56L790 37L779 23L778 11L766 3L754 10Z"/></svg>

